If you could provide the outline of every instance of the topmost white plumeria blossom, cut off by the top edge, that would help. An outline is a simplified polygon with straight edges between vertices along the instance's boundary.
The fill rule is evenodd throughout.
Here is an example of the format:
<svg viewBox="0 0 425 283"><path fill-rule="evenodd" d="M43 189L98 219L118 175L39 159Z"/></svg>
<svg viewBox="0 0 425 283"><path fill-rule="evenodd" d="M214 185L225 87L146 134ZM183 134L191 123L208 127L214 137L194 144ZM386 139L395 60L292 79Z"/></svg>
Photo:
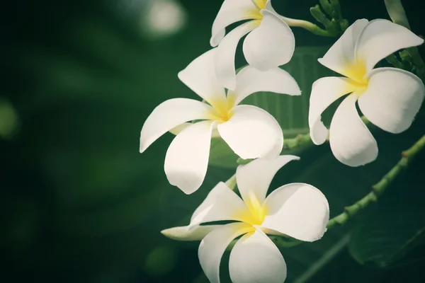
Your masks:
<svg viewBox="0 0 425 283"><path fill-rule="evenodd" d="M250 20L226 35L227 25ZM237 87L234 55L239 40L244 40L246 61L261 71L290 61L295 50L295 37L288 24L274 11L270 0L225 0L212 23L210 44L217 47L215 71L228 89Z"/></svg>

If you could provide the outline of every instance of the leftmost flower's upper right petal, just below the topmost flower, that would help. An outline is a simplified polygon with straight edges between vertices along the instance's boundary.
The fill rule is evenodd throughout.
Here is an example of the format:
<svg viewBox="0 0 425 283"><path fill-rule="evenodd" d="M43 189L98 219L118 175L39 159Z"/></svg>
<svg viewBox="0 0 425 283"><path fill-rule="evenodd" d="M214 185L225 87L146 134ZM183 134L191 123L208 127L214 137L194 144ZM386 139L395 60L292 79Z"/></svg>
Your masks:
<svg viewBox="0 0 425 283"><path fill-rule="evenodd" d="M252 66L244 67L236 75L235 105L258 91L286 93L290 96L301 95L300 87L293 76L279 67L268 71L259 71Z"/></svg>

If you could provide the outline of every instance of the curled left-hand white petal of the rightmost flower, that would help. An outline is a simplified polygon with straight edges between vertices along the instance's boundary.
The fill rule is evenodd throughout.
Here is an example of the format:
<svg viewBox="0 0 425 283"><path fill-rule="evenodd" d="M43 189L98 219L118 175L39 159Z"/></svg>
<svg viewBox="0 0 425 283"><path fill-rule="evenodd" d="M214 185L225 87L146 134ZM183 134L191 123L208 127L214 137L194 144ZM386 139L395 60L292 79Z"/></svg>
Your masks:
<svg viewBox="0 0 425 283"><path fill-rule="evenodd" d="M321 120L322 112L335 100L353 92L354 89L355 86L349 83L349 79L337 76L328 76L314 81L308 112L310 137L314 144L323 144L328 136L328 130Z"/></svg>

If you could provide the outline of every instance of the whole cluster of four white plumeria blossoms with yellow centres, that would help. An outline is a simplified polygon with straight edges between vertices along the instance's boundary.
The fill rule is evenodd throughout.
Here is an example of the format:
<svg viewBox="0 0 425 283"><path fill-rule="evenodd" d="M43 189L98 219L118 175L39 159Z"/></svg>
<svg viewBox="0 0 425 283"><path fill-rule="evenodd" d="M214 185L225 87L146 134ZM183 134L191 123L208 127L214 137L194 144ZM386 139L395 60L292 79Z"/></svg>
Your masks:
<svg viewBox="0 0 425 283"><path fill-rule="evenodd" d="M227 25L244 20L249 21L226 35ZM234 55L244 35L243 52L249 66L237 73ZM375 65L397 50L423 42L390 21L353 23L319 59L342 76L322 78L312 85L308 120L314 144L329 139L334 156L348 166L374 161L378 146L358 115L356 102L370 122L387 132L409 128L424 100L424 84L408 71ZM223 139L241 158L255 160L237 168L240 197L233 187L220 182L188 226L162 233L181 241L201 240L200 265L210 282L220 282L222 255L239 236L229 260L232 282L283 282L285 260L266 234L316 241L326 231L329 205L322 192L304 183L283 185L266 197L276 172L299 158L280 156L283 132L272 115L241 103L259 91L300 96L295 79L279 68L293 56L295 37L270 0L225 0L212 24L210 45L215 48L178 75L202 101L172 98L158 105L142 127L140 152L166 132L176 134L166 151L164 171L169 183L186 194L203 183L212 138ZM328 133L322 112L342 96L346 98ZM215 221L232 222L208 225Z"/></svg>

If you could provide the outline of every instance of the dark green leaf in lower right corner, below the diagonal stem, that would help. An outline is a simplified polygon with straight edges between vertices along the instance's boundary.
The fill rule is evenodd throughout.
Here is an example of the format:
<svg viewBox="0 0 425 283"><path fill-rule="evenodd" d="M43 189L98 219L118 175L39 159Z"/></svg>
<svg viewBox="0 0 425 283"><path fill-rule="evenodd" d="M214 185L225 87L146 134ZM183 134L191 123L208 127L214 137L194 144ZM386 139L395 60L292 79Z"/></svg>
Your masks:
<svg viewBox="0 0 425 283"><path fill-rule="evenodd" d="M412 261L404 258L407 253L425 245L421 166L423 163L412 164L404 178L387 189L375 209L353 227L348 248L357 262L384 268L403 265Z"/></svg>

